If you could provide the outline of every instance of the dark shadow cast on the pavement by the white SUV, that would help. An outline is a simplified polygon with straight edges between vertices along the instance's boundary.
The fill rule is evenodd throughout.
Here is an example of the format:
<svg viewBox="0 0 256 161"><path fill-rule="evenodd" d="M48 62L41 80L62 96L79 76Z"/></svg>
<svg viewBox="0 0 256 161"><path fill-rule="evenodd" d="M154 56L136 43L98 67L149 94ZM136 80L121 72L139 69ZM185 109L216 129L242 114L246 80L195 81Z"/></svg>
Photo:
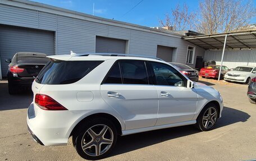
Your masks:
<svg viewBox="0 0 256 161"><path fill-rule="evenodd" d="M215 128L232 125L237 122L246 122L249 117L250 115L245 112L224 107L222 117L218 119ZM166 140L196 134L198 132L200 131L197 128L193 125L189 125L122 136L118 138L116 148L113 150L111 156L158 144Z"/></svg>

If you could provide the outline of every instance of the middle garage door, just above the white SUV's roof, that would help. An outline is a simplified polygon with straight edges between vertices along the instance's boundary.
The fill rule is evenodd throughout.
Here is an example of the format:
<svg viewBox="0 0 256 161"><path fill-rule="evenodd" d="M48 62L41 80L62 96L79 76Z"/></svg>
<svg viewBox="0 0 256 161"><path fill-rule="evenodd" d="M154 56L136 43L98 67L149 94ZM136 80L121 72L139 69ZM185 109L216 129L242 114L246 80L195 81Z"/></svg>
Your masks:
<svg viewBox="0 0 256 161"><path fill-rule="evenodd" d="M96 36L96 53L125 53L126 40Z"/></svg>

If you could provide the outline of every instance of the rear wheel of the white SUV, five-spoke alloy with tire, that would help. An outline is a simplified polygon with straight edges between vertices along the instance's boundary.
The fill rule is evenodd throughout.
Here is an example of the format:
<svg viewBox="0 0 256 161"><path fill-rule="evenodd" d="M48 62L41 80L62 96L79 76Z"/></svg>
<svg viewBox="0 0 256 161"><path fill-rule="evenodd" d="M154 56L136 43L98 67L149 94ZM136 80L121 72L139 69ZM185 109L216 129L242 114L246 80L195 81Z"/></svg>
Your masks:
<svg viewBox="0 0 256 161"><path fill-rule="evenodd" d="M86 123L84 130L75 136L75 148L84 159L98 160L106 157L116 144L117 131L108 119L99 118Z"/></svg>

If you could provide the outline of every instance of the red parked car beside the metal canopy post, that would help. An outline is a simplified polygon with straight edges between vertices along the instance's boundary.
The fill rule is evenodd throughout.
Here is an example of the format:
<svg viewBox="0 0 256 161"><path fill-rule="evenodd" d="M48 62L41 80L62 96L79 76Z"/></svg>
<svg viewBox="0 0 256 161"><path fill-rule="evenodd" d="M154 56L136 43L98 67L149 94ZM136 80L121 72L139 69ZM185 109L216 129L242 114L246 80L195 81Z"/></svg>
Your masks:
<svg viewBox="0 0 256 161"><path fill-rule="evenodd" d="M218 78L219 73L220 73L220 68L221 68L221 66L219 66L219 65L212 65L212 66L208 66L206 68L201 68L201 70L199 72L199 76L202 76L203 78L204 77ZM229 71L228 67L222 66L221 79L223 79L223 76L228 71Z"/></svg>

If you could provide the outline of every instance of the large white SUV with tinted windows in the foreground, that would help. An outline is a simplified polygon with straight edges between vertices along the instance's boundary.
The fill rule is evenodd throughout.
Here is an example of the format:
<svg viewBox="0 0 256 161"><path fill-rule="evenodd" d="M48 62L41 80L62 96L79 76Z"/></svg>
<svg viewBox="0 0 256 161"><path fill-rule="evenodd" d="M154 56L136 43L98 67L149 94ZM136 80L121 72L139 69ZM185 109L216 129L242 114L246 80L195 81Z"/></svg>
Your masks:
<svg viewBox="0 0 256 161"><path fill-rule="evenodd" d="M128 54L129 56L129 54ZM28 129L41 145L67 145L100 159L117 135L195 124L211 130L223 101L167 62L123 54L49 56L32 85Z"/></svg>

